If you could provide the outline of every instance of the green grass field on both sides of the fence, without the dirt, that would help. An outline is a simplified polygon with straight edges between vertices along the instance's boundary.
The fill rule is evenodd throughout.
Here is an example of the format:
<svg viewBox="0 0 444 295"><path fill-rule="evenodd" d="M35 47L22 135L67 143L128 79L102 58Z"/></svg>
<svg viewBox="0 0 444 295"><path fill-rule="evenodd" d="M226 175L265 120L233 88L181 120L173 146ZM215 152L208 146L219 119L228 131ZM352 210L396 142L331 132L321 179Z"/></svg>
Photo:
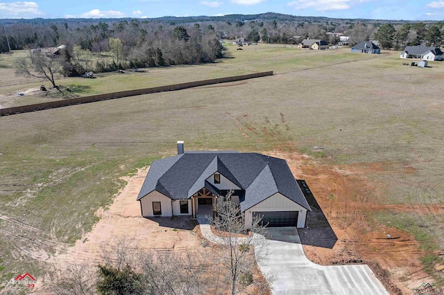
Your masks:
<svg viewBox="0 0 444 295"><path fill-rule="evenodd" d="M443 62L420 69L402 66L396 52L373 56L264 44L242 51L228 46L228 57L60 82L80 85L80 95L88 95L252 71L276 75L0 117L0 215L42 230L40 238L73 243L92 228L94 212L112 202L122 186L118 177L174 154L177 140L185 140L187 150L309 152L317 145L326 156L319 161L409 166L414 173L366 176L380 181L387 204L444 203ZM17 87L0 87L0 93ZM389 213L375 218L403 222ZM421 223L406 220L412 231ZM444 235L439 223L428 226ZM33 242L1 219L0 232L1 281L27 267L42 271L32 251L21 251ZM444 250L436 240L427 243Z"/></svg>

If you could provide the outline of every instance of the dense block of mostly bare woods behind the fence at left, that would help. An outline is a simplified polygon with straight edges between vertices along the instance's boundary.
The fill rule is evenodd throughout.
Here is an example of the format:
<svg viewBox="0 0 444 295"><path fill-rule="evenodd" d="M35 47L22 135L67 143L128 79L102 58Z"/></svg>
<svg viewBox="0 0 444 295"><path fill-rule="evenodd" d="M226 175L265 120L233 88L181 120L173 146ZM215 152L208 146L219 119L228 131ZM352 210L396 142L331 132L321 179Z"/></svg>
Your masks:
<svg viewBox="0 0 444 295"><path fill-rule="evenodd" d="M57 60L67 75L128 67L200 64L222 57L214 28L200 28L198 24L185 28L131 19L82 26L65 21L50 25L12 24L7 31L12 50L65 45ZM6 51L8 44L3 35L0 52Z"/></svg>

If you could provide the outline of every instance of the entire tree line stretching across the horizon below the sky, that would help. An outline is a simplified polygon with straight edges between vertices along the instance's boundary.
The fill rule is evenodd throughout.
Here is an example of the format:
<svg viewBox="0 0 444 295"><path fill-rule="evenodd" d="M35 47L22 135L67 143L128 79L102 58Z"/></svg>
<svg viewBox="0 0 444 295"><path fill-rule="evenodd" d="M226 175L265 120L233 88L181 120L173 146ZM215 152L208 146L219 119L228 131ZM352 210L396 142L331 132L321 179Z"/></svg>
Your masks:
<svg viewBox="0 0 444 295"><path fill-rule="evenodd" d="M378 22L277 14L256 15L262 19L253 19L254 15L249 16L249 20L244 17L210 17L211 20L200 22L192 22L194 18L2 22L12 50L66 45L58 62L67 75L214 62L223 57L219 39L238 37L274 44L299 44L307 38L325 39L334 45L343 34L350 37L350 46L376 39L382 48L394 49L419 44L441 46L444 39L443 22ZM8 51L6 35L0 36L0 52Z"/></svg>

